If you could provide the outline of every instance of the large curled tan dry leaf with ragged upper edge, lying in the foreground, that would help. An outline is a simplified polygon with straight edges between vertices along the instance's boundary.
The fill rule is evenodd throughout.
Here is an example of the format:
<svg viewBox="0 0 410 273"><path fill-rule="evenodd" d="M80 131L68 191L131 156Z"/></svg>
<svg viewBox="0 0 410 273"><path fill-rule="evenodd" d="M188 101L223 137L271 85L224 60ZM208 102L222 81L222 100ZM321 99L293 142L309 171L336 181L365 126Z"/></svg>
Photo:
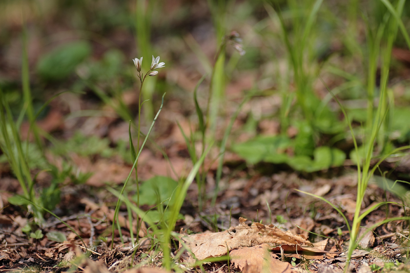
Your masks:
<svg viewBox="0 0 410 273"><path fill-rule="evenodd" d="M240 217L240 224L231 227L229 230L217 233L193 234L182 237L182 242L195 255L198 260L208 257L220 257L233 249L239 247L251 247L263 243L281 244L304 244L311 243L301 235L293 235L289 232L281 231L273 225L262 225L253 223L250 227L245 224L246 219ZM180 244L180 248L182 244ZM190 254L186 261L189 259Z"/></svg>

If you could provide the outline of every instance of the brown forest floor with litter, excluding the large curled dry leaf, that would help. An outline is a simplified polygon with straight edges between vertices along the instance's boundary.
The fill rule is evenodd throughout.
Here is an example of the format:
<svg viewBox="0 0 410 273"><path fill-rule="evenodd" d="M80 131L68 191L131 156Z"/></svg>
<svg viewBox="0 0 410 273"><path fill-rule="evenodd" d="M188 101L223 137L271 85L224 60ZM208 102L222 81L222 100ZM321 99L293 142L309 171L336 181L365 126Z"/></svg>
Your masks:
<svg viewBox="0 0 410 273"><path fill-rule="evenodd" d="M174 1L180 2L180 1ZM174 3L175 4L175 3ZM215 39L209 39L212 34L210 20L207 12L202 11L203 6L197 3L193 5L195 12L195 20L190 21L192 33L195 39L202 41L203 50L211 57L215 53ZM56 15L51 16L56 20ZM52 20L50 18L46 20ZM34 19L32 19L34 21ZM205 20L205 22L203 22ZM33 21L29 24L34 25ZM44 22L43 22L44 23ZM180 27L183 29L184 24L180 22ZM10 29L17 28L21 30L21 24L10 21L8 25ZM76 39L75 31L68 28L64 22L54 22L53 24L43 24L44 31L52 33L55 29L68 30L71 38ZM35 63L44 48L41 47L36 29L29 28L29 44L31 44L29 52L29 61L31 66ZM201 31L200 31L201 30ZM20 54L15 47L8 46L9 44L20 44L20 36L15 32L10 32L8 43L1 44L5 54L0 55L0 63L5 65L0 67L1 77L7 78L13 82L20 80L20 67L17 64L21 59L15 58ZM67 37L68 37L67 36ZM189 36L185 39L189 39ZM117 48L123 51L125 56L135 58L135 41L129 32L117 30L108 33L105 39L111 40ZM158 44L171 44L172 40L169 37L157 37ZM166 48L166 47L165 47ZM167 61L167 57L171 59L173 55L184 54L188 52L187 45L174 45L177 49L168 49L161 55L162 60ZM101 44L93 44L93 58L99 59L105 51ZM407 54L403 53L400 54ZM161 151L156 148L153 143L148 143L144 148L140 157L138 174L141 180L149 179L153 176L170 176L174 179L179 179L188 174L192 167L192 161L187 151L184 137L179 131L175 120L178 120L185 132L189 132L193 116L195 115L195 106L192 99L192 91L201 78L201 69L193 69L198 67L199 61L191 53L182 59L184 65L175 65L172 69L164 74L159 74L161 80L168 80L170 85L178 86L181 92L168 92L165 97L164 109L161 112L159 119L154 127L153 137L156 145L160 146L169 158L164 158ZM397 54L396 54L397 55ZM397 56L396 56L397 57ZM144 57L146 58L146 57ZM149 58L146 58L149 59ZM403 60L400 56L399 60ZM188 60L188 64L186 61ZM183 63L181 61L181 63ZM260 68L262 69L262 68ZM409 75L409 70L404 70L400 74ZM227 103L224 109L224 115L219 119L219 127L215 135L217 139L221 139L224 133L228 118L236 110L238 102L243 97L245 90L250 90L255 82L258 81L259 71L239 71L232 78L226 87L226 100L234 103ZM397 76L396 75L396 76ZM32 75L31 81L35 86L38 84L35 75ZM399 77L399 76L397 76ZM73 79L70 79L74 81ZM336 85L337 79L327 79L329 85ZM55 94L57 91L67 89L64 84L52 84L44 87L45 95L38 95L39 100L45 101L51 97L50 94ZM262 87L261 87L262 88ZM126 101L130 109L138 107L138 94L136 89L125 90L123 99ZM319 90L318 94L326 92ZM154 105L156 109L159 107L161 96L156 94L154 97ZM258 135L273 135L277 134L279 124L277 121L263 119L258 121L257 131L249 133L242 128L245 126L246 119L249 113L258 109L262 111L266 117L277 113L279 95L272 95L268 98L253 98L244 106L237 121L234 123L232 137L235 141L241 142ZM205 105L206 96L200 96L201 105ZM72 113L73 109L93 109L104 110L112 113L110 117L74 117L66 118ZM135 111L137 112L137 111ZM133 113L136 114L136 113ZM192 122L194 124L194 122ZM66 140L75 135L75 132L81 132L84 136L97 136L99 138L109 139L109 146L115 147L120 140L128 141L128 123L119 118L113 109L107 106L102 106L101 101L90 91L85 90L85 94L74 96L70 93L63 94L55 99L48 108L46 116L38 121L39 127L47 133L52 134L58 139ZM28 123L24 123L21 132L28 130ZM194 128L195 129L195 128ZM144 127L143 130L146 131ZM292 134L291 130L289 134ZM44 140L44 143L47 143ZM351 143L350 143L351 144ZM348 144L348 145L350 145ZM229 143L228 143L229 147ZM216 157L219 150L217 148L211 150L210 157ZM14 194L21 194L21 188L17 179L15 179L10 167L7 163L0 163L0 272L21 271L26 272L67 272L70 269L69 262L75 261L79 267L74 272L86 273L105 273L122 272L124 269L135 265L146 265L146 268L138 270L130 270L131 272L161 272L158 268L161 266L161 254L155 252L155 249L150 249L150 242L147 239L140 239L140 247L135 252L131 249L129 224L127 222L127 213L125 207L120 211L120 225L124 241L120 240L118 231L116 231L113 242L114 248L111 248L111 225L114 215L114 209L117 198L111 195L106 189L107 181L110 185L121 185L124 179L128 176L132 164L124 160L121 156L113 155L104 157L101 155L81 156L76 153L69 153L64 156L64 159L59 158L51 153L46 152L47 159L57 166L62 166L62 161L67 160L74 165L81 167L82 172L91 172L92 176L87 179L84 184L73 185L67 184L61 188L61 202L53 211L56 215L62 218L70 227L72 227L83 239L83 242L69 230L66 225L51 215L46 215L46 223L41 228L43 234L48 232L58 231L66 235L67 241L57 243L43 237L41 239L29 238L22 232L22 228L31 220L31 216L22 208L13 206L8 203L8 198ZM171 162L171 165L169 164ZM209 169L207 174L207 195L212 196L215 187L215 174L217 162L210 159L205 160L206 169ZM394 163L384 163L384 170L391 170L393 176L399 176L401 173L408 173L410 170L409 158L404 158L399 167ZM39 170L33 170L33 176ZM202 211L198 209L198 192L195 183L191 185L186 196L184 206L181 209L181 214L184 215L184 220L177 222L175 231L181 234L207 234L223 232L229 227L238 227L244 225L240 222L240 217L248 219L246 224L251 227L253 222L261 222L264 228L270 224L270 221L277 227L289 231L292 235L301 234L309 238L310 242L318 243L314 251L304 249L295 249L290 247L285 251L281 249L269 247L271 250L269 258L280 261L281 264L275 266L283 266L283 272L342 272L346 261L346 242L349 240L349 233L345 225L344 219L331 206L321 201L320 199L299 193L295 190L309 192L315 195L323 196L332 204L340 207L346 215L350 224L353 219L355 210L356 196L356 172L355 167L349 160L345 166L340 168L332 168L326 171L316 172L312 174L297 173L289 169L286 165L273 164L256 164L249 165L246 161L239 158L231 152L226 152L225 165L223 169L223 178L220 184L220 192L218 194L215 206L211 206L210 198L205 202ZM51 176L48 173L41 173L37 177L36 190L50 184ZM365 201L362 206L362 211L380 201L393 201L401 203L401 201L380 189L376 183L371 182L366 191ZM267 204L269 205L270 212ZM142 209L149 209L148 206ZM388 217L398 217L409 215L409 212L403 209L403 206L389 204L382 206L371 212L363 221L366 227L374 223L382 221ZM263 227L264 226L264 227ZM300 228L298 228L300 227ZM341 227L338 233L338 228ZM144 233L145 232L145 233ZM317 236L321 234L328 236L325 238ZM141 236L146 235L146 229L140 232ZM370 265L375 264L372 269L377 269L377 266L385 267L383 272L410 272L410 265L407 261L409 252L409 224L406 221L394 221L382 225L374 230L374 233L369 233L361 242L360 248L354 253L354 258L357 260L366 260ZM101 238L106 238L102 240ZM83 255L85 245L92 249L89 256ZM177 242L171 245L171 253L177 254ZM242 249L246 249L244 246ZM263 253L256 250L254 255L263 256ZM293 260L292 260L293 258ZM399 261L398 265L386 262L388 260ZM273 260L267 259L273 265ZM181 257L181 269L187 272L261 272L255 271L252 266L244 266L243 261L219 261L204 264L201 267L184 268L184 257ZM248 260L248 263L256 262L262 264L261 260ZM291 263L295 263L293 266ZM363 262L354 264L353 270L359 271ZM268 265L269 266L269 265ZM362 269L362 273L369 272L369 268ZM275 272L270 271L270 272Z"/></svg>

